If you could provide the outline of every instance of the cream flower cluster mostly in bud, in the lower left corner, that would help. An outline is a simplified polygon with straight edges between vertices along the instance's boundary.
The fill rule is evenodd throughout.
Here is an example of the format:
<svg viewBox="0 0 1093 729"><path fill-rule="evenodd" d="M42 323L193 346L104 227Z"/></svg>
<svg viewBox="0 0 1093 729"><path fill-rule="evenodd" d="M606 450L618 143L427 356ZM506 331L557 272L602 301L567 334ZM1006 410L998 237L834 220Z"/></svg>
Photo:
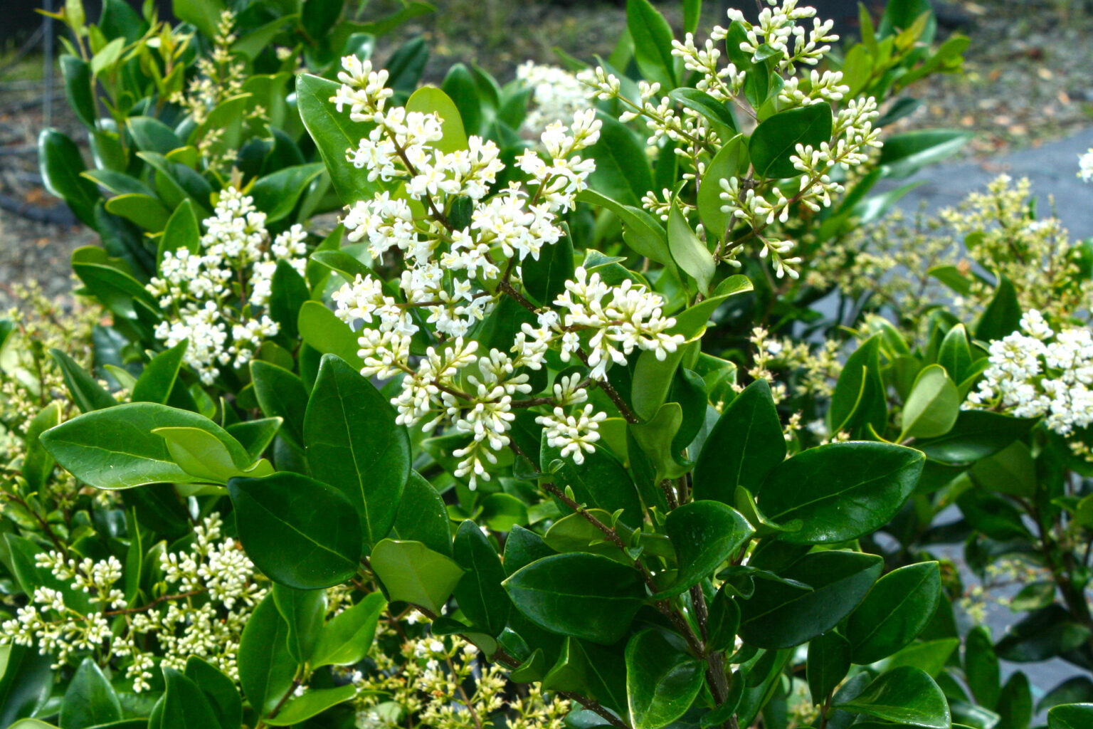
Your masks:
<svg viewBox="0 0 1093 729"><path fill-rule="evenodd" d="M42 655L55 658L55 667L70 662L74 654L128 658L126 677L140 693L150 686L156 667L155 656L140 647L148 643L142 636L151 636L163 666L183 670L190 656L199 656L237 680L243 626L265 590L255 584L254 564L236 542L222 538L221 528L213 514L195 527L188 552L164 553L162 593L131 608L115 587L122 578L116 557L77 561L61 552L38 554L37 566L58 580L71 580L71 589L89 596L93 609L84 614L60 590L38 587L32 603L0 625L0 645L37 644ZM116 624L118 618L124 625Z"/></svg>

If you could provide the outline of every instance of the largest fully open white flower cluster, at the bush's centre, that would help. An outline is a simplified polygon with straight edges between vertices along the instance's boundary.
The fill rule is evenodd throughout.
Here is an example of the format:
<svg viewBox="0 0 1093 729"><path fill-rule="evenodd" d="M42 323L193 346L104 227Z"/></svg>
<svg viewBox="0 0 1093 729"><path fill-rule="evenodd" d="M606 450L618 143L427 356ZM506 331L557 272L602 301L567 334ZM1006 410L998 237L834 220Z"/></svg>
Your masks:
<svg viewBox="0 0 1093 729"><path fill-rule="evenodd" d="M343 222L350 239L367 238L373 258L397 250L404 270L397 289L357 275L334 293L336 314L351 326L364 324L362 374L402 377L391 401L399 423L426 431L450 424L470 436L455 451L460 459L456 475L473 489L478 480L490 480L497 451L510 444L512 410L522 407L514 398L531 391L522 371L541 369L552 345L564 361L576 355L591 368L591 379L602 380L607 367L624 362L635 348L663 357L682 338L666 333L674 320L661 316L660 297L631 282L611 287L599 274L587 277L578 269L577 280L554 302L564 320L519 291L521 262L538 259L543 246L562 237L556 216L575 205L595 169L590 160L575 156L599 138L592 109L575 114L569 128L548 125L542 133L546 158L529 150L516 160L528 181L490 195L504 169L495 144L471 137L467 150L442 152L433 146L443 136L442 119L387 109L386 72L373 71L367 61L349 57L343 69L342 86L331 101L348 106L351 118L376 125L346 151L348 158L372 179L402 184L354 203ZM473 328L505 296L533 311L539 326L525 324L507 350L480 351ZM586 339L591 353L583 349ZM424 355L412 356L412 349ZM577 443L574 454L589 450L596 440L589 434L602 419L587 413L571 425L564 413L560 418L565 428L552 431L555 440L563 447Z"/></svg>

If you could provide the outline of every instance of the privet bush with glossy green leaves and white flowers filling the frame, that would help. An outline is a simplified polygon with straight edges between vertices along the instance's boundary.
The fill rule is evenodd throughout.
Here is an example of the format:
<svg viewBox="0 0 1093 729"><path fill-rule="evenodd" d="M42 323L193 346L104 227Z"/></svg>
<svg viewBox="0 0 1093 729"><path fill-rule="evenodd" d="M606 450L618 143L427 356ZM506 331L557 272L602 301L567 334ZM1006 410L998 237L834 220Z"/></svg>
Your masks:
<svg viewBox="0 0 1093 729"><path fill-rule="evenodd" d="M861 281L913 256L858 232L906 189L872 186L965 138L881 133L914 109L894 95L959 68L966 39L931 49L926 2L863 13L835 64L831 25L792 0L701 40L700 3L673 39L631 0L595 67L500 86L460 66L416 91L420 44L378 70L354 34L423 3L368 27L330 7L179 3L211 39L187 83L158 87L162 56L139 114L109 92L109 119L87 107L96 144L140 149L143 125L179 166L141 150L151 166L87 204L107 250L73 262L110 313L109 379L32 352L0 724L1026 727L1027 681L1002 690L997 656L1089 667L1084 247L999 187L947 219L965 248L920 254L959 301L907 286L914 258ZM71 58L80 38L104 52L109 13L83 30L66 9ZM119 63L184 47L149 27ZM306 47L266 48L290 38ZM187 144L266 83L236 87L239 63L284 56L287 82L298 52L302 126L281 106ZM151 109L180 116L133 124ZM83 185L71 165L59 192ZM110 190L102 173L84 178ZM341 224L310 236L328 190ZM111 249L103 221L150 201L162 225ZM1036 308L1045 280L1060 295ZM833 322L845 351L801 337L836 287L866 301ZM58 378L82 414L39 395ZM954 501L966 525L935 525ZM927 553L952 534L984 575L1044 569L1014 601L1036 612L997 645L973 631L963 660L959 578ZM1051 729L1090 721L1065 704L1084 686L1045 699Z"/></svg>

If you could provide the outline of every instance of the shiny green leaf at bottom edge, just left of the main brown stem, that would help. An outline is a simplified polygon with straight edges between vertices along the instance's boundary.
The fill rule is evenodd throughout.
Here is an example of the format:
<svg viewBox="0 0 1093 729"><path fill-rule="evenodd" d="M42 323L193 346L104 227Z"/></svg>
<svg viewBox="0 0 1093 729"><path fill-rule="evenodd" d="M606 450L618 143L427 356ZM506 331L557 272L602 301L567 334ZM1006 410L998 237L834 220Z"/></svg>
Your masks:
<svg viewBox="0 0 1093 729"><path fill-rule="evenodd" d="M634 729L660 729L683 716L703 686L703 663L677 635L642 631L626 644L626 701Z"/></svg>

